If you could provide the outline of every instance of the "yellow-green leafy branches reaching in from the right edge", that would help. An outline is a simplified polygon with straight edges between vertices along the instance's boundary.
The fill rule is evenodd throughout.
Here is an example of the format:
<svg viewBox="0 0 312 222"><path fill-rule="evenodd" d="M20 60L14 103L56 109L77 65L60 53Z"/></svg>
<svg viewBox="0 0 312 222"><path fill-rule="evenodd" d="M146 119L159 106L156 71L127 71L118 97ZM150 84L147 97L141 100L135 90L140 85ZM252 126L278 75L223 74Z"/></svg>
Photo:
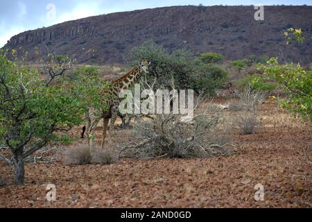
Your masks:
<svg viewBox="0 0 312 222"><path fill-rule="evenodd" d="M277 58L271 58L268 65L263 65L264 74L275 78L282 85L288 97L281 105L300 114L312 122L312 69L305 70L300 64L288 63L279 65Z"/></svg>

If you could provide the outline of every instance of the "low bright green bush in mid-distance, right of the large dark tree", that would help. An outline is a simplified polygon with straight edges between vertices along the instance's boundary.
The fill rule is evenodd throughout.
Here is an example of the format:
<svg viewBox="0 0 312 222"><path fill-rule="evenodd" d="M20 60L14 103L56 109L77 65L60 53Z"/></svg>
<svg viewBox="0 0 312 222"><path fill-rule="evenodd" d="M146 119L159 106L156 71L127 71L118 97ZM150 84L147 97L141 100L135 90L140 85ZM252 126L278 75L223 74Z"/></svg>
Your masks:
<svg viewBox="0 0 312 222"><path fill-rule="evenodd" d="M241 89L250 88L257 91L270 91L276 87L274 83L268 82L268 79L265 79L258 74L252 74L241 78L238 85Z"/></svg>

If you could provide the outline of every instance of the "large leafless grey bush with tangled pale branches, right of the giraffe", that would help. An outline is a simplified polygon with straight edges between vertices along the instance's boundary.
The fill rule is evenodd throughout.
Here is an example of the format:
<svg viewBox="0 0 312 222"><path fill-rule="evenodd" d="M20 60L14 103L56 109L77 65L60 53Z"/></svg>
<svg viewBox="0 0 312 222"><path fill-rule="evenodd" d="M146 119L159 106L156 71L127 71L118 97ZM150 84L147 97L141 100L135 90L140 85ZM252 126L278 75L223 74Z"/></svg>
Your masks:
<svg viewBox="0 0 312 222"><path fill-rule="evenodd" d="M178 114L156 114L133 124L136 141L120 146L122 157L208 157L226 155L229 148L223 118L208 113L196 114L184 121Z"/></svg>

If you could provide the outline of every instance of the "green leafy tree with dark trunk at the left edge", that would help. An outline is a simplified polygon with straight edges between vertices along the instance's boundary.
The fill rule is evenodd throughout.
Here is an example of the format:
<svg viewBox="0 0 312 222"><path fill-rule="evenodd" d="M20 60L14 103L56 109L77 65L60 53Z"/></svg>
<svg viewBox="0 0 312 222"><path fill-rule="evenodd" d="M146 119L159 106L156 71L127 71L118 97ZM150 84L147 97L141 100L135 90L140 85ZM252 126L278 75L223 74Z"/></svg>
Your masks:
<svg viewBox="0 0 312 222"><path fill-rule="evenodd" d="M8 60L7 54L0 51L0 144L11 157L0 153L0 158L14 167L15 184L20 185L24 159L66 138L64 131L83 121L88 99L86 87L65 76L72 60L65 67L61 62L58 69L46 69L48 76L42 78L37 70Z"/></svg>

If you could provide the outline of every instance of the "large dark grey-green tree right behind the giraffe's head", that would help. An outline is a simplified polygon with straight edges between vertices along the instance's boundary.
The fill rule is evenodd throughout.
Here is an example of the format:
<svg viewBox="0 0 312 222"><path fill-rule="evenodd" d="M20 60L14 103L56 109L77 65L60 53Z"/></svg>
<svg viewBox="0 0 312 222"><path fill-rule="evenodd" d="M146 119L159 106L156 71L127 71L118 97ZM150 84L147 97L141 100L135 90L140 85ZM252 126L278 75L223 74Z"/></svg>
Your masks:
<svg viewBox="0 0 312 222"><path fill-rule="evenodd" d="M151 81L157 78L155 87L173 87L176 89L192 88L204 89L211 93L226 79L227 73L220 67L209 65L201 58L194 57L188 51L177 50L168 53L162 46L154 42L145 42L132 49L132 65L136 65L141 58L150 60L148 74Z"/></svg>

